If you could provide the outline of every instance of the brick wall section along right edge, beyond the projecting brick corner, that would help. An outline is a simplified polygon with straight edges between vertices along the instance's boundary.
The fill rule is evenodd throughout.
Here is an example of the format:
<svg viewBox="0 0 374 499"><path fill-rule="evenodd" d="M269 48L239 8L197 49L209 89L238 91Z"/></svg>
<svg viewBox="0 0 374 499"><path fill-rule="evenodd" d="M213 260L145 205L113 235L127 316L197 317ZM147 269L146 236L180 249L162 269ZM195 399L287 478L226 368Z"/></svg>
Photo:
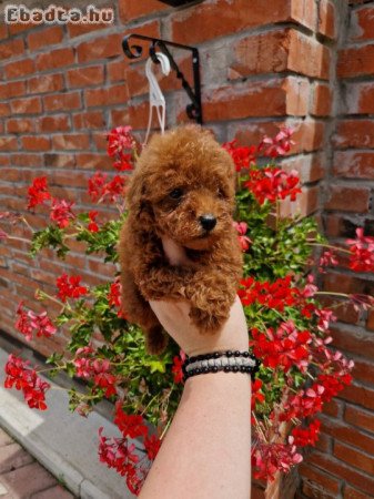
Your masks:
<svg viewBox="0 0 374 499"><path fill-rule="evenodd" d="M341 11L334 85L331 164L324 192L324 224L332 242L373 235L374 2L346 2ZM342 266L325 278L341 293L374 292L373 276ZM304 497L374 497L374 314L338 309L333 345L353 358L354 383L325 410L319 449L302 466Z"/></svg>

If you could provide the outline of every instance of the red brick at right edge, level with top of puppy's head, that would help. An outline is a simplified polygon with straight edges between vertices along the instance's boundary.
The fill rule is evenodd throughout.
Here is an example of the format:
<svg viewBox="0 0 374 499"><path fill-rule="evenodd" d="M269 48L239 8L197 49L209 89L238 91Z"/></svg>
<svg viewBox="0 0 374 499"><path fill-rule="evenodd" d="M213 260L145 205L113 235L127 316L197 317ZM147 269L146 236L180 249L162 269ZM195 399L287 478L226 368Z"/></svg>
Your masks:
<svg viewBox="0 0 374 499"><path fill-rule="evenodd" d="M372 120L340 121L333 144L335 147L374 147L374 122Z"/></svg>

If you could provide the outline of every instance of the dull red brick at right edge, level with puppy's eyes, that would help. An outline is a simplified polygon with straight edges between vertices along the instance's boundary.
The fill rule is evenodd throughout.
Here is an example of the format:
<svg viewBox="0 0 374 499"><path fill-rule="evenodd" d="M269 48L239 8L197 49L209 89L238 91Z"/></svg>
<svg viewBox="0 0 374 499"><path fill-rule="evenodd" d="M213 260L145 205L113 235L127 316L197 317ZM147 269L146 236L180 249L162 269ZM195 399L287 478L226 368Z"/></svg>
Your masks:
<svg viewBox="0 0 374 499"><path fill-rule="evenodd" d="M368 211L370 190L366 187L345 187L332 185L328 191L325 210L366 213Z"/></svg>

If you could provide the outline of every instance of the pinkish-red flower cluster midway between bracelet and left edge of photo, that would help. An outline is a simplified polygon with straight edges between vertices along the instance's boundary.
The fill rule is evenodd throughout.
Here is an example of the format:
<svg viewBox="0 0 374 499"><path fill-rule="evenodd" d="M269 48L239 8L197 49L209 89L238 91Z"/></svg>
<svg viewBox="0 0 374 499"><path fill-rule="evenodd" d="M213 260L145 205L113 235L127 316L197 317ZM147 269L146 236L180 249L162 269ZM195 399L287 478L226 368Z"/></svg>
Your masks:
<svg viewBox="0 0 374 499"><path fill-rule="evenodd" d="M97 387L105 390L105 397L117 395L117 377L111 373L111 365L107 358L98 358L91 347L82 347L77 350L73 364L77 376L92 379Z"/></svg>

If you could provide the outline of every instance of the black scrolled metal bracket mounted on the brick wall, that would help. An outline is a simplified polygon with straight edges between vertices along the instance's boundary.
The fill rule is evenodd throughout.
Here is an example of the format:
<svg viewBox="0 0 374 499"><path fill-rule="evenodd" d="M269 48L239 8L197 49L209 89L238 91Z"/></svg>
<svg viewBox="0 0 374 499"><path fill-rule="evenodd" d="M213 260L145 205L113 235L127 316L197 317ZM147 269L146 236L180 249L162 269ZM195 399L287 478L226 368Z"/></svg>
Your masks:
<svg viewBox="0 0 374 499"><path fill-rule="evenodd" d="M160 49L170 60L171 68L176 72L176 78L182 81L182 86L186 94L191 99L191 104L188 104L185 111L191 120L195 120L198 123L202 124L202 108L201 108L201 85L200 85L200 60L199 50L193 47L181 45L166 40L160 40L158 38L144 37L143 34L128 34L122 41L123 52L129 59L138 59L143 53L143 48L141 45L130 45L131 39L145 40L150 42L149 53L152 61L156 64L160 63L155 55L155 49ZM175 47L176 49L189 50L192 52L192 72L193 72L193 85L194 90L191 89L190 83L184 78L184 74L179 69L173 55L170 53L168 47Z"/></svg>

